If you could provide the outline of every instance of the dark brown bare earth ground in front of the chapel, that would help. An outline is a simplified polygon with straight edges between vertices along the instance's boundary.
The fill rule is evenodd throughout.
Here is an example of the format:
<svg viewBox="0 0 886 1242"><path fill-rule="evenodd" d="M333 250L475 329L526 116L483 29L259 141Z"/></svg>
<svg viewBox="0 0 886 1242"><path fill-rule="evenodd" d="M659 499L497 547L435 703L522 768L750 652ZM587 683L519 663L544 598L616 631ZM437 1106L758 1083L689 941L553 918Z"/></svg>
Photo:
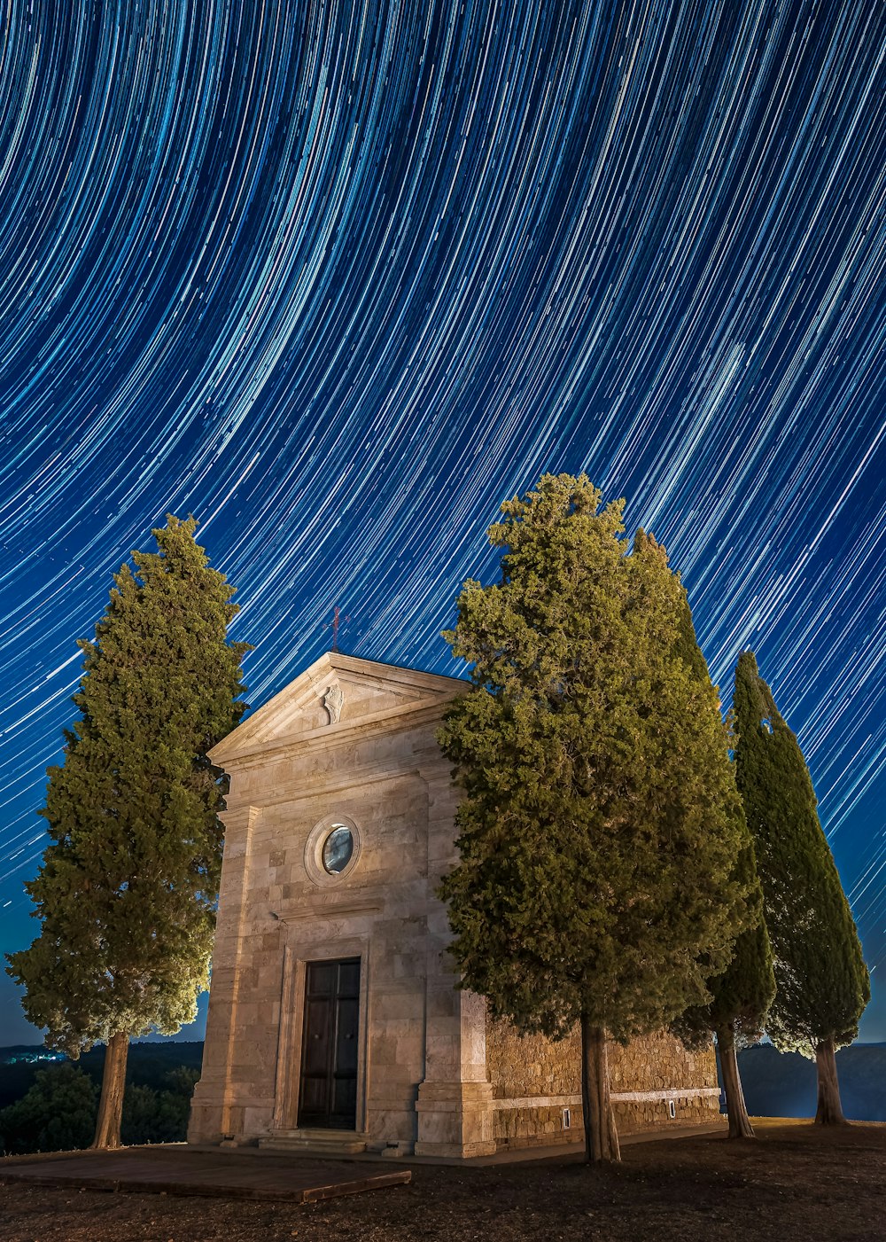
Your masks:
<svg viewBox="0 0 886 1242"><path fill-rule="evenodd" d="M0 1237L9 1242L886 1240L886 1125L823 1130L808 1122L754 1124L756 1143L730 1143L718 1134L656 1139L625 1146L620 1165L598 1170L573 1156L486 1167L398 1161L412 1170L408 1185L319 1203L10 1182L0 1186Z"/></svg>

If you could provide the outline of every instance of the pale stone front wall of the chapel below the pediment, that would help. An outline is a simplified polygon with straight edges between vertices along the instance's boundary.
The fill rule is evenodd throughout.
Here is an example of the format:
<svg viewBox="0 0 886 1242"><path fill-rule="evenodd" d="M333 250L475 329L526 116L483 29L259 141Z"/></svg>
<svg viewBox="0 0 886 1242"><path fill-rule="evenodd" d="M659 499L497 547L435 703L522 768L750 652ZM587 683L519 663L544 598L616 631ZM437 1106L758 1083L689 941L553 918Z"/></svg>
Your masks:
<svg viewBox="0 0 886 1242"><path fill-rule="evenodd" d="M345 707L356 691L349 687ZM342 713L342 717L345 713ZM454 796L436 745L439 713L329 727L231 763L225 866L204 1073L191 1141L256 1143L298 1122L305 964L360 958L359 1133L416 1140L426 1077L429 790ZM309 722L311 723L311 722ZM307 869L324 825L352 825L360 854L338 882ZM455 996L450 986L449 992Z"/></svg>

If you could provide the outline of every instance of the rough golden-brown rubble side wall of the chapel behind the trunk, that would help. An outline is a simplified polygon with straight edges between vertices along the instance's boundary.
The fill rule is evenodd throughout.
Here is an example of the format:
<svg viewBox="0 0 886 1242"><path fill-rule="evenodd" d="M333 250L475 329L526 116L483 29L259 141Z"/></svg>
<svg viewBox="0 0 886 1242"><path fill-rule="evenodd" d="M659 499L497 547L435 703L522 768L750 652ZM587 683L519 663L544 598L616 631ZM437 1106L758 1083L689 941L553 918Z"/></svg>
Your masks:
<svg viewBox="0 0 886 1242"><path fill-rule="evenodd" d="M643 1036L627 1047L609 1043L613 1113L619 1134L694 1125L718 1117L714 1049L690 1052L666 1032ZM486 1020L486 1063L494 1095L499 1149L582 1139L581 1036L553 1042L520 1036L504 1021ZM643 1099L618 1099L643 1095ZM668 1100L676 1117L671 1119ZM563 1129L563 1109L570 1129Z"/></svg>

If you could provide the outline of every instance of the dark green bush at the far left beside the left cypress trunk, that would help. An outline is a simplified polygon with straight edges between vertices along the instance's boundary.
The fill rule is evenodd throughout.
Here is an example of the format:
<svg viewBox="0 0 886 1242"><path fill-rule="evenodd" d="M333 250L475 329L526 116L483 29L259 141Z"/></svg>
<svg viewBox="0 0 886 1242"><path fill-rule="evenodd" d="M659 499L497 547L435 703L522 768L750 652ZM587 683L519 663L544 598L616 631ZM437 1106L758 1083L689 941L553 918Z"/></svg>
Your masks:
<svg viewBox="0 0 886 1242"><path fill-rule="evenodd" d="M32 1086L0 1110L0 1151L71 1151L88 1145L96 1128L98 1087L72 1064L38 1069Z"/></svg>

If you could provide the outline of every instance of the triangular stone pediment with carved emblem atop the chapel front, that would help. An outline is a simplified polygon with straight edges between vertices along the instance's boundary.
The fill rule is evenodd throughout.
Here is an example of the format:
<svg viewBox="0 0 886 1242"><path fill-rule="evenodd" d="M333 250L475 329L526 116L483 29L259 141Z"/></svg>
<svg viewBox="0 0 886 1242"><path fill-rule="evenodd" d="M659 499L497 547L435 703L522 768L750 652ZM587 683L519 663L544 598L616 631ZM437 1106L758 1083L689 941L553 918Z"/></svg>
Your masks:
<svg viewBox="0 0 886 1242"><path fill-rule="evenodd" d="M303 734L342 730L403 709L442 707L465 689L467 683L455 677L328 652L247 717L210 754L223 766L237 755L294 741Z"/></svg>

